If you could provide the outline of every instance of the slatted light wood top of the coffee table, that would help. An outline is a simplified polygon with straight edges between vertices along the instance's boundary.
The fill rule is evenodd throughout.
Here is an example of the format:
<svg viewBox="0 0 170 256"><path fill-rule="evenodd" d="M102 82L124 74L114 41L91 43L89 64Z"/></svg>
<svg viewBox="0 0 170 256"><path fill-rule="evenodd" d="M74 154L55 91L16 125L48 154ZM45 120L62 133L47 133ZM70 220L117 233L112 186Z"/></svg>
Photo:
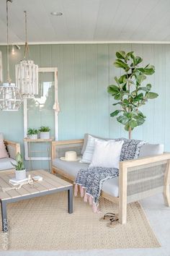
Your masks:
<svg viewBox="0 0 170 256"><path fill-rule="evenodd" d="M49 174L44 170L27 171L27 175L42 176L42 182L34 182L33 186L24 184L20 189L12 189L6 192L2 188L14 187L9 184L9 179L14 178L14 171L1 171L0 172L0 199L10 200L12 198L22 197L26 195L34 195L41 192L50 191L53 189L60 189L62 187L71 187L72 184L58 178L53 174Z"/></svg>

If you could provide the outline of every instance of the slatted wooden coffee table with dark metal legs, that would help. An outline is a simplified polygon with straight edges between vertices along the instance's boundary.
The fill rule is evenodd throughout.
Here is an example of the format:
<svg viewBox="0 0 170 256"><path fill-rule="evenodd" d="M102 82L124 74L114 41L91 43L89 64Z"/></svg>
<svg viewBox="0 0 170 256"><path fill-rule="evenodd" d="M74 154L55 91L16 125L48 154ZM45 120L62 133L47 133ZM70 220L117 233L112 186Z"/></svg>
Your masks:
<svg viewBox="0 0 170 256"><path fill-rule="evenodd" d="M43 170L29 171L27 172L27 175L28 174L31 174L32 176L42 176L43 180L42 182L34 182L33 186L25 184L20 189L12 189L3 192L2 188L14 187L9 184L9 179L14 177L14 171L0 172L0 201L3 231L8 231L6 215L6 204L8 202L17 202L32 197L50 195L55 192L68 191L68 213L73 213L73 185L71 183Z"/></svg>

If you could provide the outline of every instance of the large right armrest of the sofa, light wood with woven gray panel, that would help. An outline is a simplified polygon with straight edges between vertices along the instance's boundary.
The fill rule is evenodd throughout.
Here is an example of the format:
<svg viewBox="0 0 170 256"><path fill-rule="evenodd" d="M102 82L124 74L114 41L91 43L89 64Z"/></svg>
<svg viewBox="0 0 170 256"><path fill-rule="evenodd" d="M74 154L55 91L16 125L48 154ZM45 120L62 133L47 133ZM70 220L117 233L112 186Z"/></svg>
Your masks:
<svg viewBox="0 0 170 256"><path fill-rule="evenodd" d="M163 192L166 205L170 205L169 184L170 153L120 162L120 222L125 223L128 202Z"/></svg>

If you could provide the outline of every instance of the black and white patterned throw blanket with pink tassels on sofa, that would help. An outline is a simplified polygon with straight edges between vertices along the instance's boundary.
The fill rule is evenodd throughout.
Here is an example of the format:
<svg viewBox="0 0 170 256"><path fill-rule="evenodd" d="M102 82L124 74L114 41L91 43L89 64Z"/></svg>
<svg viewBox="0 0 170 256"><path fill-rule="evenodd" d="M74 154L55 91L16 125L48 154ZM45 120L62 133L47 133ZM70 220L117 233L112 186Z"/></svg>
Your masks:
<svg viewBox="0 0 170 256"><path fill-rule="evenodd" d="M116 139L124 140L120 153L120 161L132 160L138 158L140 147L146 142L141 140L127 140L125 138ZM112 179L119 176L117 168L104 167L89 167L79 170L75 180L74 195L76 196L80 190L81 197L84 197L84 202L89 201L92 205L94 213L99 212L99 196L102 190L102 184L107 179Z"/></svg>

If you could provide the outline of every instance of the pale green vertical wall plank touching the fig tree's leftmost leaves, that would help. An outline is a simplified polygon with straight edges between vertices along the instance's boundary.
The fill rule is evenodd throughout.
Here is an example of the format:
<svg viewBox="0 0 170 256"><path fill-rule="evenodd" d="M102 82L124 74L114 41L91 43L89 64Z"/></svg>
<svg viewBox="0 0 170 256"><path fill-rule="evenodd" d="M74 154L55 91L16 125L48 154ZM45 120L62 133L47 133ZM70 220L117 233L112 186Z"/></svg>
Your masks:
<svg viewBox="0 0 170 256"><path fill-rule="evenodd" d="M109 111L107 86L109 82L109 51L108 44L97 45L97 118L98 133L109 137Z"/></svg>

